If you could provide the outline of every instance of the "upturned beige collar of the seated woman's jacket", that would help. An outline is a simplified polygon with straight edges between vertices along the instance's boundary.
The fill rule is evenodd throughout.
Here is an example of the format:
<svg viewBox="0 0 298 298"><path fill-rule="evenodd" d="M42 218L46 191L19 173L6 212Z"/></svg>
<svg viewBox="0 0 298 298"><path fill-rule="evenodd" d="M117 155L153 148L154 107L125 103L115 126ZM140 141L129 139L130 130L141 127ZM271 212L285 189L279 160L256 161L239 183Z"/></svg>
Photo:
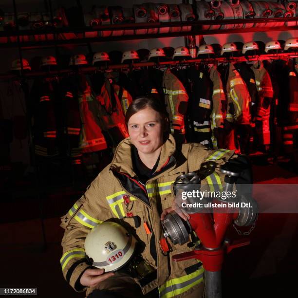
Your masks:
<svg viewBox="0 0 298 298"><path fill-rule="evenodd" d="M110 170L126 173L131 177L135 176L135 172L132 167L131 146L132 144L130 142L130 138L126 138L118 144L112 159ZM169 157L175 153L175 150L175 140L172 135L169 135L168 140L162 146L156 172L158 172L168 162Z"/></svg>

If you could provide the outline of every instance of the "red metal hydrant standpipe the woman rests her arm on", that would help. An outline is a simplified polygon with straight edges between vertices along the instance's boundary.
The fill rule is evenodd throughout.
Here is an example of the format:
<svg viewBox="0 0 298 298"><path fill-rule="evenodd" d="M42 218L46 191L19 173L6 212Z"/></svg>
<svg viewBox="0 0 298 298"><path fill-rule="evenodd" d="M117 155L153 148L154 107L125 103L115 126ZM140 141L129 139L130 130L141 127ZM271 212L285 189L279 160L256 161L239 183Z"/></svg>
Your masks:
<svg viewBox="0 0 298 298"><path fill-rule="evenodd" d="M233 189L235 177L239 176L235 170L221 168L225 176L225 190ZM189 183L187 183L187 180ZM182 181L182 182L181 182ZM188 190L200 187L200 177L198 173L188 173L177 177L174 183L177 189ZM189 187L190 186L190 187ZM194 203L193 198L188 202ZM207 208L199 208L196 213L189 214L190 219L185 222L176 212L169 213L162 222L165 230L164 236L168 237L173 244L184 244L188 242L188 234L194 231L201 243L194 250L172 256L174 261L185 261L197 259L203 263L205 268L205 293L206 298L221 298L221 270L223 257L232 249L248 245L249 240L241 240L230 243L224 240L227 228L234 222L238 225L251 225L257 215L257 204L253 199L241 197L242 203L249 203L251 207L240 208L234 202L212 198L208 200ZM207 201L205 201L207 202ZM239 203L239 202L238 202ZM206 203L205 203L206 204Z"/></svg>

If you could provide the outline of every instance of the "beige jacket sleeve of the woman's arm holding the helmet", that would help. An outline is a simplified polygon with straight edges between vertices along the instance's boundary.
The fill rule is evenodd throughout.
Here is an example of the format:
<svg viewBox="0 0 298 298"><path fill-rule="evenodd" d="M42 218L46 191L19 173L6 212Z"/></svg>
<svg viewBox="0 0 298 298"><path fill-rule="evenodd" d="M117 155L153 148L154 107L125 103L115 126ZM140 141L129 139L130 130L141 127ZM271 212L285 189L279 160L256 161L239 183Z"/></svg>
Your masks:
<svg viewBox="0 0 298 298"><path fill-rule="evenodd" d="M104 181L101 175L98 175L85 194L61 218L60 226L65 232L61 243L63 253L60 263L64 278L77 292L85 290L79 283L79 278L90 267L84 250L86 235L97 224L113 217L103 196L101 188Z"/></svg>

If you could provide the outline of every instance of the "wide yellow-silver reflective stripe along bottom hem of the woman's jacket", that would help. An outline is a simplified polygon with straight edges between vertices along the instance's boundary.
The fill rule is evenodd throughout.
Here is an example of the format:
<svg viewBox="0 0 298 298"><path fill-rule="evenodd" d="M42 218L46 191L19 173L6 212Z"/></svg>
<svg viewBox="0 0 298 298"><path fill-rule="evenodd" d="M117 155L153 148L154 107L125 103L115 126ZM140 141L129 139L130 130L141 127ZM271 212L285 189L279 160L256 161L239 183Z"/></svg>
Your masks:
<svg viewBox="0 0 298 298"><path fill-rule="evenodd" d="M159 288L160 298L170 298L180 295L204 279L204 268L201 266L197 271L186 276L170 279Z"/></svg>

